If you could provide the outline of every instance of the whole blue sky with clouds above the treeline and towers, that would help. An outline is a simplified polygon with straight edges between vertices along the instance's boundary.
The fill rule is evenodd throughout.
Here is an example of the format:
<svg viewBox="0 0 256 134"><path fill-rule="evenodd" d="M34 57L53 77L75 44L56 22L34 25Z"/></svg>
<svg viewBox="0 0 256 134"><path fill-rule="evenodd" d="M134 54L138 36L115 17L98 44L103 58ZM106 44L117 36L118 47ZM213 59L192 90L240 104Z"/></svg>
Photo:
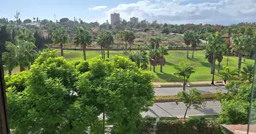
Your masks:
<svg viewBox="0 0 256 134"><path fill-rule="evenodd" d="M0 0L0 18L54 20L67 17L83 21L110 21L110 13L122 19L158 23L211 23L230 25L256 21L256 0Z"/></svg>

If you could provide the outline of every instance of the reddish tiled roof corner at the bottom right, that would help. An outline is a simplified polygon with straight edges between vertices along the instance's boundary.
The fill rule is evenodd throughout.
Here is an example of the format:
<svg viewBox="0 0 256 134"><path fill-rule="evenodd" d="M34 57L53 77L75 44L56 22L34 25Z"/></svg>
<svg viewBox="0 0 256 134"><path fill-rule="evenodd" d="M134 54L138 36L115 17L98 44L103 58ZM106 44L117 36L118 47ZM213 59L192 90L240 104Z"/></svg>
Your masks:
<svg viewBox="0 0 256 134"><path fill-rule="evenodd" d="M222 125L227 131L234 133L234 131L247 131L248 125ZM256 125L250 125L249 132L256 132Z"/></svg>

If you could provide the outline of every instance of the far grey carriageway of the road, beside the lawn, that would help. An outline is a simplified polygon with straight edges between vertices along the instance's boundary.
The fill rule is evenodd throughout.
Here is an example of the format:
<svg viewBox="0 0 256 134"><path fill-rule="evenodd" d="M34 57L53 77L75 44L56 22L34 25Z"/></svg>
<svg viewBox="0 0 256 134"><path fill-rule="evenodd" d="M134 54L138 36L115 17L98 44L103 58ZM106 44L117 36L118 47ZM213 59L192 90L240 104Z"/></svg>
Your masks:
<svg viewBox="0 0 256 134"><path fill-rule="evenodd" d="M189 90L191 87L187 87L186 90ZM224 86L201 86L197 87L198 90L201 90L203 93L215 93L218 90L222 90L222 92L226 92ZM178 92L183 91L183 87L177 88L154 88L155 95L175 95Z"/></svg>

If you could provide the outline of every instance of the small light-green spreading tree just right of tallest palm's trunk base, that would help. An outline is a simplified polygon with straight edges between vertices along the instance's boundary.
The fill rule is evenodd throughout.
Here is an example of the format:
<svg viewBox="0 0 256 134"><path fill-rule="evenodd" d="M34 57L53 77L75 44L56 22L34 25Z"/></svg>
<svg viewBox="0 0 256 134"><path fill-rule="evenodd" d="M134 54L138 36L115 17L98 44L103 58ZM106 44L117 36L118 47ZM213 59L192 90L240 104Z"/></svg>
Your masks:
<svg viewBox="0 0 256 134"><path fill-rule="evenodd" d="M220 71L219 74L226 84L226 80L232 80L237 75L237 70L230 70L228 66L224 66L224 70Z"/></svg>

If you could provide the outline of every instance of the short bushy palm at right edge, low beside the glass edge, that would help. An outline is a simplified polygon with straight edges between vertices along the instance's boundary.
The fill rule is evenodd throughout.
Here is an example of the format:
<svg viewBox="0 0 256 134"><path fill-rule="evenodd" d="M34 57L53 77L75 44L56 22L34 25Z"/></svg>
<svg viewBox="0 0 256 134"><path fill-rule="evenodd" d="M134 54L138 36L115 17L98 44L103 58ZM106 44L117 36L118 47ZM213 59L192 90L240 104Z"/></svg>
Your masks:
<svg viewBox="0 0 256 134"><path fill-rule="evenodd" d="M243 70L241 71L241 80L249 80L249 82L253 82L253 65L247 65L246 67L243 67Z"/></svg>

